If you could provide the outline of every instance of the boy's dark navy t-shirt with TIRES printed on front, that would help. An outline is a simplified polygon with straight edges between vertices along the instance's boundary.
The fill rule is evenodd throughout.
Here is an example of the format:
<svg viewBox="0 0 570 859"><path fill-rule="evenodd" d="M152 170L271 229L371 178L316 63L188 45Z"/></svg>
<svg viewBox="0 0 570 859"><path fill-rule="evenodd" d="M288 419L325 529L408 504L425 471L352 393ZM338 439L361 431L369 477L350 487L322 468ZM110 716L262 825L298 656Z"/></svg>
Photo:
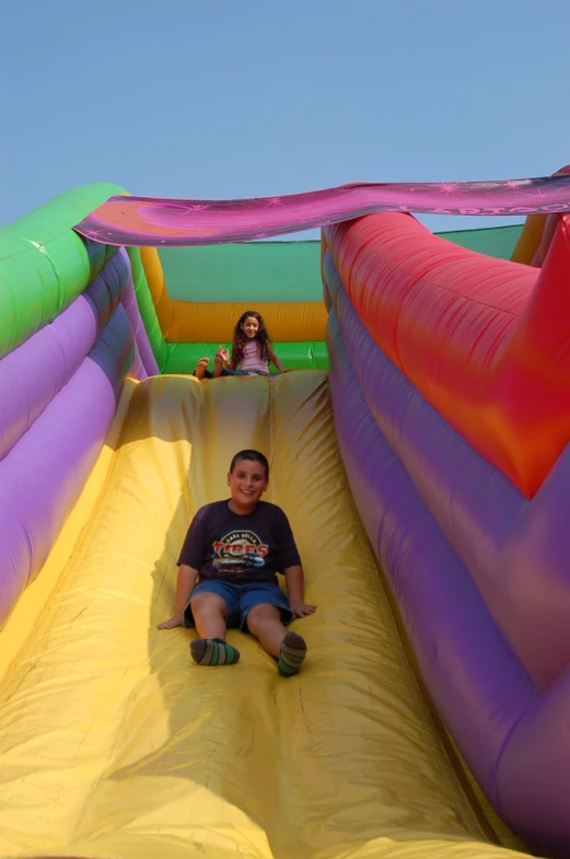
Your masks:
<svg viewBox="0 0 570 859"><path fill-rule="evenodd" d="M245 515L228 501L201 507L194 520L178 565L199 570L199 581L233 584L277 583L277 572L301 564L287 515L280 507L258 501Z"/></svg>

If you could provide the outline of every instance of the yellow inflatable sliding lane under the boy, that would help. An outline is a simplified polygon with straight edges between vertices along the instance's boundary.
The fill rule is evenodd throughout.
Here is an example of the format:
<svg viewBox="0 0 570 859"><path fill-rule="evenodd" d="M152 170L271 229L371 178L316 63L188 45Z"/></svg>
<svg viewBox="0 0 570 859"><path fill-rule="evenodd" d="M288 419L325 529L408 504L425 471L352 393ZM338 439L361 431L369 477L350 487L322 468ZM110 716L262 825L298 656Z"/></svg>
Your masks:
<svg viewBox="0 0 570 859"><path fill-rule="evenodd" d="M310 655L292 680L237 632L240 664L205 669L188 630L156 629L189 520L224 497L242 446L270 457L267 499L291 519L318 605L298 623ZM54 559L3 634L1 856L514 856L452 764L406 659L347 487L326 374L147 380L103 455L80 541L55 549L63 572L50 597ZM26 640L22 612L35 615Z"/></svg>

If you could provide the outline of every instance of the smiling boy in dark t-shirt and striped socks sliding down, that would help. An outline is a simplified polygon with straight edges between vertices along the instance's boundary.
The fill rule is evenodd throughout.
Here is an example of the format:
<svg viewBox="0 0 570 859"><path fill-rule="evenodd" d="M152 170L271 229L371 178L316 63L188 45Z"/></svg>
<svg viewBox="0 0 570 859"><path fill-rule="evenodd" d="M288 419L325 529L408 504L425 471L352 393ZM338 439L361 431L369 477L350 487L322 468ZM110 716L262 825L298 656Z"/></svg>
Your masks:
<svg viewBox="0 0 570 859"><path fill-rule="evenodd" d="M284 512L260 500L268 481L263 453L235 454L228 474L231 498L196 513L178 558L174 616L159 629L195 626L200 637L190 642L194 661L231 665L240 652L225 641L225 631L239 627L254 635L278 660L279 673L290 677L299 672L306 645L286 626L313 614L315 606L303 602L303 568ZM284 573L289 599L277 572Z"/></svg>

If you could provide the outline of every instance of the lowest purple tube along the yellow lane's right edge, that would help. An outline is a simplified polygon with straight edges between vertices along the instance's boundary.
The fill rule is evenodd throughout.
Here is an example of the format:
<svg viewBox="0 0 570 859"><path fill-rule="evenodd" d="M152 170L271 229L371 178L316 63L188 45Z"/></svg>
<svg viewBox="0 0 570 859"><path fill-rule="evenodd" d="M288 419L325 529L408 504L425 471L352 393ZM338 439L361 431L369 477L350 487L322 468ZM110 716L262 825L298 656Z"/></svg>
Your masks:
<svg viewBox="0 0 570 859"><path fill-rule="evenodd" d="M503 820L537 854L567 856L570 669L539 697L380 431L334 311L327 340L350 487L422 677Z"/></svg>

